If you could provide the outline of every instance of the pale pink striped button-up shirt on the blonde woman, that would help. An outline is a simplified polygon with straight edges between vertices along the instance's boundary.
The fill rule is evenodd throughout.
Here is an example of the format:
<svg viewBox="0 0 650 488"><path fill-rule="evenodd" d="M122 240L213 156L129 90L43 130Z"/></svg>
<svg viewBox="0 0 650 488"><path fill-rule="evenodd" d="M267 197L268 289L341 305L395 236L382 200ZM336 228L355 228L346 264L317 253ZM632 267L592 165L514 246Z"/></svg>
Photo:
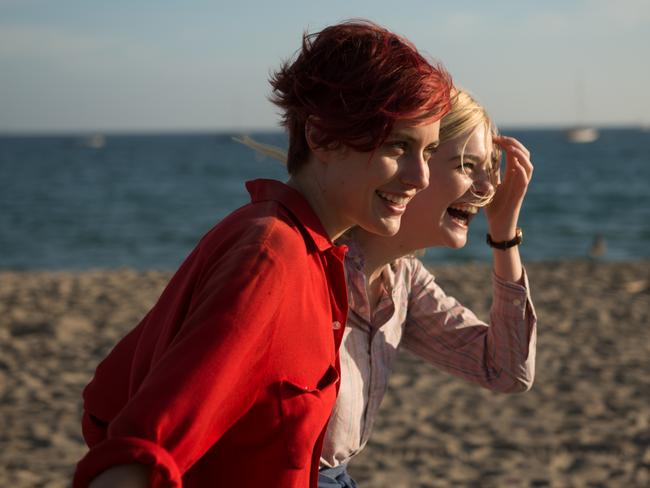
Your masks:
<svg viewBox="0 0 650 488"><path fill-rule="evenodd" d="M363 257L346 242L349 313L340 349L341 385L327 428L321 467L347 463L368 442L399 347L490 390L530 389L535 374L536 315L528 278L492 274L490 324L447 296L414 257L382 272L371 314Z"/></svg>

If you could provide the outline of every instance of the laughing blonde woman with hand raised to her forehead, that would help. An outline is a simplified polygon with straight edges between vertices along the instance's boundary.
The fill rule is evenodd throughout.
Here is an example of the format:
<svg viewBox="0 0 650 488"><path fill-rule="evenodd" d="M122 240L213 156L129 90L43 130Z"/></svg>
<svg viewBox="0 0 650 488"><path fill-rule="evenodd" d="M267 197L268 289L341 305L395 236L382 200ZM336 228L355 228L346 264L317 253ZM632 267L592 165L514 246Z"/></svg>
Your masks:
<svg viewBox="0 0 650 488"><path fill-rule="evenodd" d="M269 155L282 153L249 140ZM496 147L495 147L496 146ZM506 154L500 182L500 152ZM408 154L409 149L401 149ZM341 387L321 454L320 488L355 487L347 465L368 442L400 347L467 381L504 393L533 383L536 316L519 256L519 212L533 166L516 139L497 135L467 92L452 96L429 187L404 214L395 236L356 227L346 271L350 312L341 345ZM433 246L461 248L484 208L493 247L490 325L445 292L413 255ZM435 402L435 399L431 400Z"/></svg>

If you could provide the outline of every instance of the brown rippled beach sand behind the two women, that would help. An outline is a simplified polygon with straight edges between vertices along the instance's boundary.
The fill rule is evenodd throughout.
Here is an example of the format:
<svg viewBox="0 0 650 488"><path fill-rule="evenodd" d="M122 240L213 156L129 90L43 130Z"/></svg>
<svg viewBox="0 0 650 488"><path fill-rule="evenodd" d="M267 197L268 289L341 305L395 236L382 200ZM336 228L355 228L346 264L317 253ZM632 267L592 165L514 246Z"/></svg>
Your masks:
<svg viewBox="0 0 650 488"><path fill-rule="evenodd" d="M533 263L537 377L482 390L404 352L360 488L650 486L650 262ZM486 317L489 269L434 270ZM0 486L64 487L85 452L81 390L169 273L0 272Z"/></svg>

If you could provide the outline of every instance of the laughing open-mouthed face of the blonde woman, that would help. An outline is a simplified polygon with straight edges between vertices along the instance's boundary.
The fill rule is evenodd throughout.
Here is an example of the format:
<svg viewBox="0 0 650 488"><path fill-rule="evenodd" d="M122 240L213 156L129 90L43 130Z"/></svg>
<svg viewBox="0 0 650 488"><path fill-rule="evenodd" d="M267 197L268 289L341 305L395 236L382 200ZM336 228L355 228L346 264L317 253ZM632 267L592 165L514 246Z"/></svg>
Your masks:
<svg viewBox="0 0 650 488"><path fill-rule="evenodd" d="M429 162L429 186L409 205L398 234L408 252L432 246L463 247L478 212L479 195L492 191L492 137L484 124L440 145Z"/></svg>

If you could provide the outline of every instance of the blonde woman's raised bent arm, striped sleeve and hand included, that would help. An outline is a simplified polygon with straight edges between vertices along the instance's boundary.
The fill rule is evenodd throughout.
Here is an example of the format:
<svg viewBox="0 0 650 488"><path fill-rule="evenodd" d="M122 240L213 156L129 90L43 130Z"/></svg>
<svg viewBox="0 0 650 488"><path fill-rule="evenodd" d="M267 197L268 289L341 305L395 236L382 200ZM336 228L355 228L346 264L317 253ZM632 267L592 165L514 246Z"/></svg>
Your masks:
<svg viewBox="0 0 650 488"><path fill-rule="evenodd" d="M506 153L503 183L485 213L492 239L510 240L533 173L530 152L516 139L495 137ZM421 265L413 275L404 342L436 366L502 392L533 383L537 318L518 246L494 249L491 325L438 287Z"/></svg>

